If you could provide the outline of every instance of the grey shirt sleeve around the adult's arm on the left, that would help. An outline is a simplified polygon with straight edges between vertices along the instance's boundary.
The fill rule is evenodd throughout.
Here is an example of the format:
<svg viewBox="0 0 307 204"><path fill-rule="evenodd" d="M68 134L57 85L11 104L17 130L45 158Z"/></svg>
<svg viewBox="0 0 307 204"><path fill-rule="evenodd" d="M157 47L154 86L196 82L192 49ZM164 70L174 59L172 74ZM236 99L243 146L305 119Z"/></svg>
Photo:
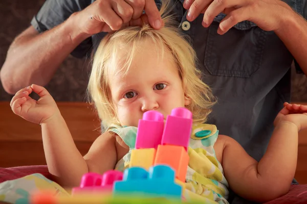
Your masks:
<svg viewBox="0 0 307 204"><path fill-rule="evenodd" d="M91 0L47 0L38 13L32 18L31 25L39 32L45 32L61 24L71 14L81 11L91 4ZM81 42L71 53L72 56L82 58L92 48L92 39Z"/></svg>

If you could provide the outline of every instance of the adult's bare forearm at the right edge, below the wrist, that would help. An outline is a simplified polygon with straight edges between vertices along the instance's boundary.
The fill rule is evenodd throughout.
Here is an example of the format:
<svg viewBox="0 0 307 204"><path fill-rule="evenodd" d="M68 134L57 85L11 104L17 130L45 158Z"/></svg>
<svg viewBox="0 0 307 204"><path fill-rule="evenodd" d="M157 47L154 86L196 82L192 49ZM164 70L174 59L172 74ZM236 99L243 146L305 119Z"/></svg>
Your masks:
<svg viewBox="0 0 307 204"><path fill-rule="evenodd" d="M307 21L294 11L285 15L281 21L281 27L275 33L307 74Z"/></svg>

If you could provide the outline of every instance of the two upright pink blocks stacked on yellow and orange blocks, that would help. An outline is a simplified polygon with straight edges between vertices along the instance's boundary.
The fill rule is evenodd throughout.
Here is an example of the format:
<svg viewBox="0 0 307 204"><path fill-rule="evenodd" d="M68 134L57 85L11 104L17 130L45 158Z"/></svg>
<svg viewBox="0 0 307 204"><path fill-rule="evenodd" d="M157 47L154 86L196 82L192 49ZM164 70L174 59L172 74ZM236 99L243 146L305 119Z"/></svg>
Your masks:
<svg viewBox="0 0 307 204"><path fill-rule="evenodd" d="M145 112L139 121L136 149L131 151L130 167L148 170L159 164L169 165L176 172L176 178L185 182L191 130L192 113L185 108L173 109L167 116L165 127L161 113Z"/></svg>

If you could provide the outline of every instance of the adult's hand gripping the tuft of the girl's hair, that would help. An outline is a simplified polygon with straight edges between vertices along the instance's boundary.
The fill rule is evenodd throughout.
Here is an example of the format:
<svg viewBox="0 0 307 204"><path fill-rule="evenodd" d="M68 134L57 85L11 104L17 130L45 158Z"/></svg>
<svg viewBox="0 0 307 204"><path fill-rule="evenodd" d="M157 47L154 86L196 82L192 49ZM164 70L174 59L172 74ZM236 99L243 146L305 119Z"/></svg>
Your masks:
<svg viewBox="0 0 307 204"><path fill-rule="evenodd" d="M142 14L143 10L146 14ZM162 25L154 0L97 0L73 15L78 28L88 35L147 22L155 29L160 29Z"/></svg>

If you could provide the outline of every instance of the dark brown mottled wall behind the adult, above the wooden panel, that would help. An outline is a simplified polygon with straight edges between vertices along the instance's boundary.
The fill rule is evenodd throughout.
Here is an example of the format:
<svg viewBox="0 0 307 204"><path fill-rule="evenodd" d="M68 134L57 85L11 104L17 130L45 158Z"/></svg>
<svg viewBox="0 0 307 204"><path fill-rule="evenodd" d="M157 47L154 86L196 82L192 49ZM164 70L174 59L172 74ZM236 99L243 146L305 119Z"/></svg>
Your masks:
<svg viewBox="0 0 307 204"><path fill-rule="evenodd" d="M34 14L44 0L0 1L0 66L2 67L9 45L17 34L29 27ZM89 75L88 63L69 57L63 62L55 77L46 86L56 101L85 101L85 90ZM293 71L292 101L307 101L307 79ZM10 100L0 84L0 100Z"/></svg>

